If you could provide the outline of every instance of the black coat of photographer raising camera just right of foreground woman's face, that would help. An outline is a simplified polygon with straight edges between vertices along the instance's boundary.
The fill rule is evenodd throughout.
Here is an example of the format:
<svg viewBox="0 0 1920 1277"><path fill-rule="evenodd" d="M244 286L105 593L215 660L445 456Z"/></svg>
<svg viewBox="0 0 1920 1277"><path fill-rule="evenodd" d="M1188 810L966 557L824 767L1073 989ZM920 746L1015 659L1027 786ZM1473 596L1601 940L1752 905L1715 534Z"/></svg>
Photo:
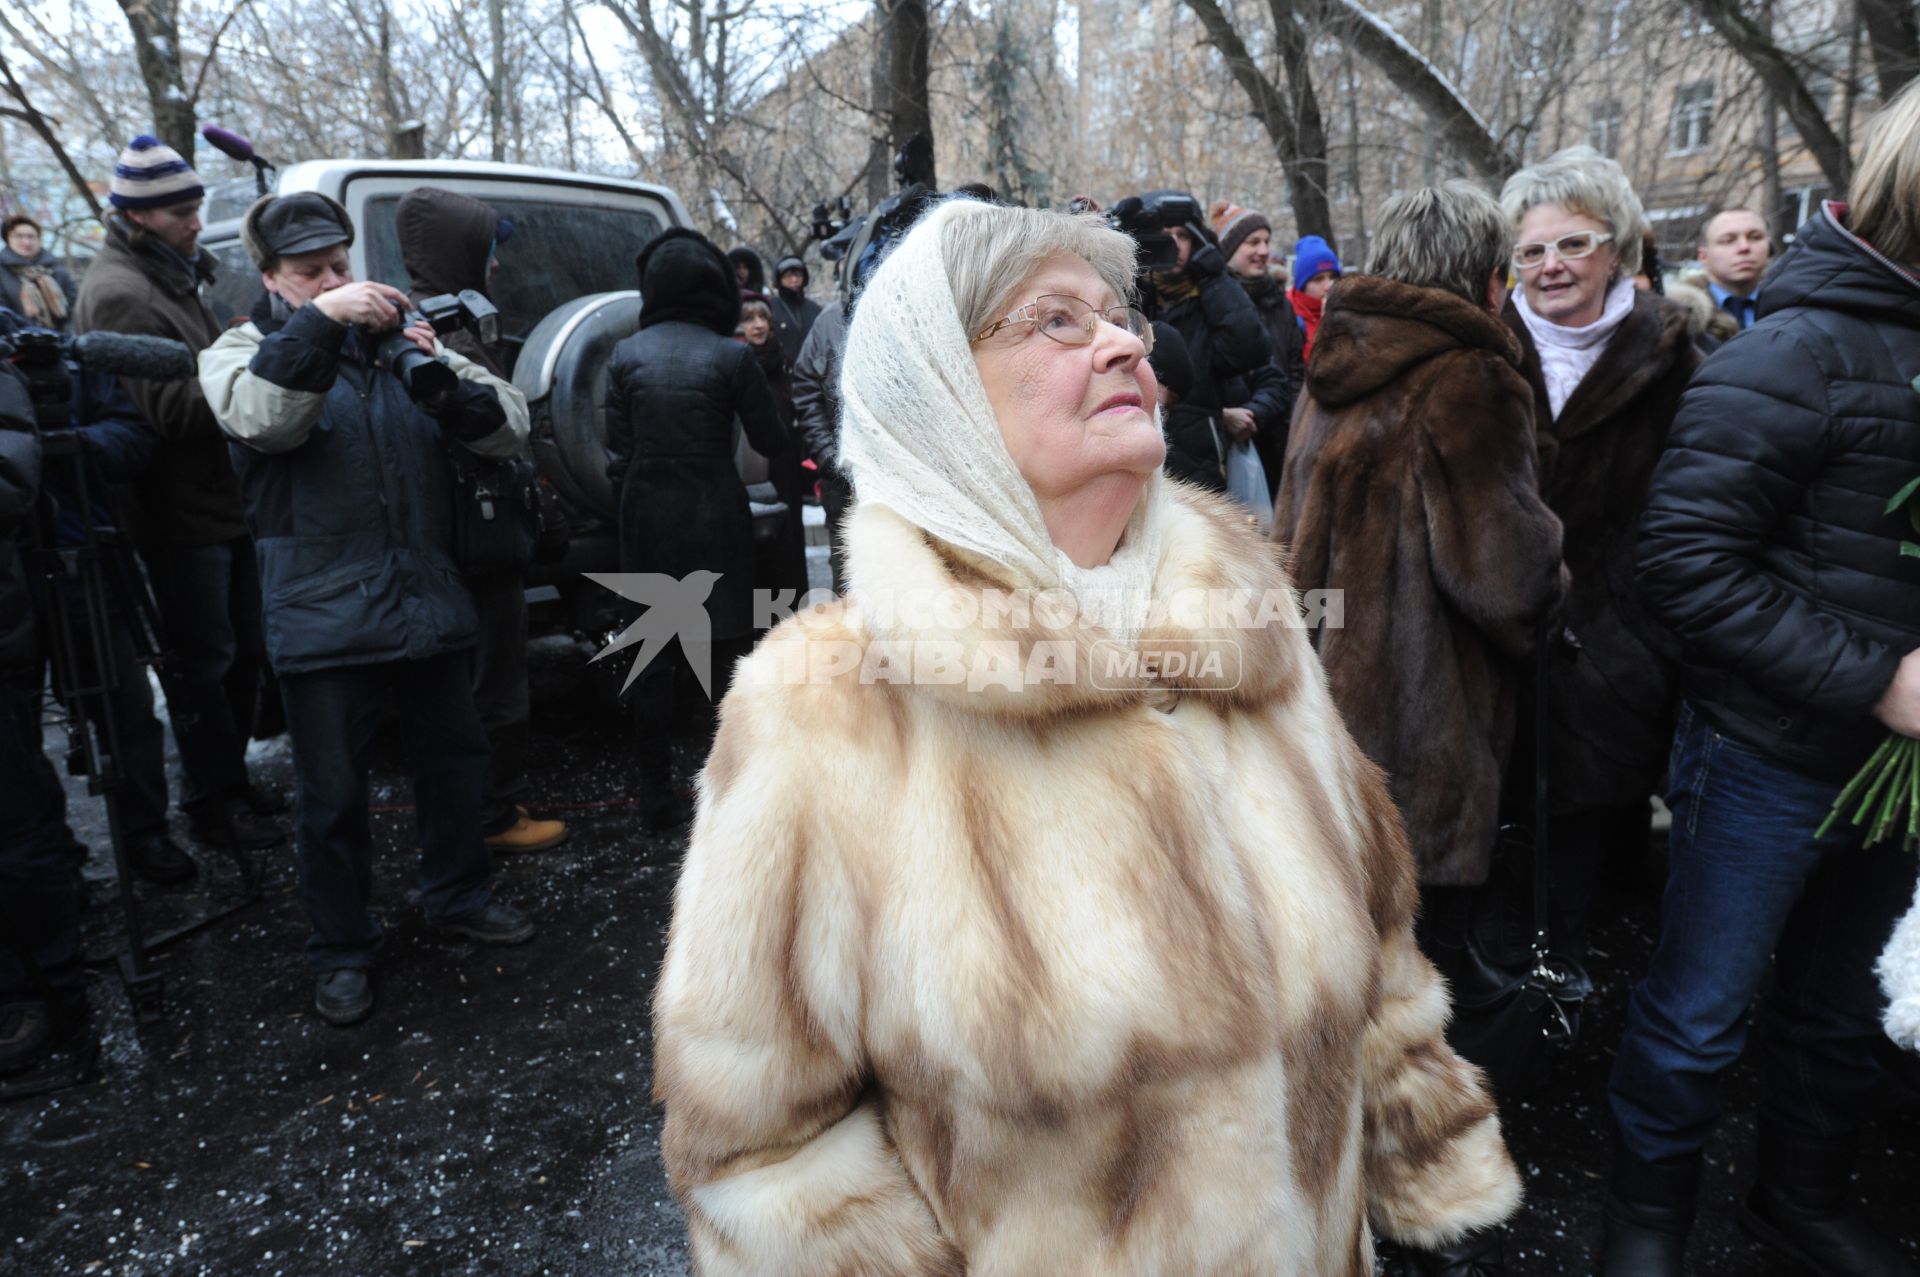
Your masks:
<svg viewBox="0 0 1920 1277"><path fill-rule="evenodd" d="M1173 325L1187 342L1194 365L1192 394L1181 403L1188 409L1167 426L1167 474L1202 484L1215 492L1225 488L1221 453L1215 444L1227 432L1219 426L1219 409L1252 409L1260 434L1269 436L1261 451L1267 465L1267 488L1277 486L1284 461L1286 422L1294 411L1294 396L1286 376L1273 363L1267 330L1254 311L1246 290L1233 275L1213 275L1200 280L1200 292L1173 303L1154 303L1150 317ZM1256 436L1258 440L1260 436ZM1273 440L1281 451L1267 461Z"/></svg>

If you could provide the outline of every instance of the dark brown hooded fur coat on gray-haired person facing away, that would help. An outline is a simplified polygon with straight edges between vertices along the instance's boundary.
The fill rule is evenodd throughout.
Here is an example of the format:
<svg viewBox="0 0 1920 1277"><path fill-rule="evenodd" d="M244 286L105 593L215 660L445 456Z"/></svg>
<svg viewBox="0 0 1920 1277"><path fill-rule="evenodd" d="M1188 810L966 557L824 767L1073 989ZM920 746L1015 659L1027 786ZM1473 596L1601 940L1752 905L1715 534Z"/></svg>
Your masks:
<svg viewBox="0 0 1920 1277"><path fill-rule="evenodd" d="M1486 307L1342 280L1273 520L1294 584L1342 591L1321 664L1436 885L1486 878L1521 670L1561 595L1561 524L1540 499L1519 363Z"/></svg>

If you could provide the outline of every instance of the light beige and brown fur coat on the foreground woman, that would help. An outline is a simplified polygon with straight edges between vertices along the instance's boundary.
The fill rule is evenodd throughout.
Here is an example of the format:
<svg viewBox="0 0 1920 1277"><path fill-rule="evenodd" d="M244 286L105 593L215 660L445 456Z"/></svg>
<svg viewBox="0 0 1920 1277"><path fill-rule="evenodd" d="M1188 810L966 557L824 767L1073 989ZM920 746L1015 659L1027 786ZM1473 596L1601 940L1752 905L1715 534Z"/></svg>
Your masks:
<svg viewBox="0 0 1920 1277"><path fill-rule="evenodd" d="M1225 505L1160 499L1156 597L1286 590ZM885 509L849 543L856 590L995 584ZM1094 655L1016 620L887 638ZM1238 686L824 678L876 641L851 603L743 663L655 997L697 1271L1359 1277L1371 1233L1513 1212L1400 818L1304 632L1140 643L1194 639L1240 645Z"/></svg>

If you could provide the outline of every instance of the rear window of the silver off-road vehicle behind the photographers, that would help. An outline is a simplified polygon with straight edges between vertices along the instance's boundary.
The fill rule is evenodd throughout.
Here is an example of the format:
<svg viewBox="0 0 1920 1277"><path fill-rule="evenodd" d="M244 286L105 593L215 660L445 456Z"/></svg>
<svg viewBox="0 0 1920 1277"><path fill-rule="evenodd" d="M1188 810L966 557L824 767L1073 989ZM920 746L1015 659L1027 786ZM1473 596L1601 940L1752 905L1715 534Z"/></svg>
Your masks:
<svg viewBox="0 0 1920 1277"><path fill-rule="evenodd" d="M549 311L591 292L636 288L634 257L653 236L659 219L632 205L547 204L486 196L501 217L513 221L513 238L501 244L493 277L493 305L501 332L524 338ZM363 211L369 275L396 288L411 288L394 234L399 196L374 196Z"/></svg>

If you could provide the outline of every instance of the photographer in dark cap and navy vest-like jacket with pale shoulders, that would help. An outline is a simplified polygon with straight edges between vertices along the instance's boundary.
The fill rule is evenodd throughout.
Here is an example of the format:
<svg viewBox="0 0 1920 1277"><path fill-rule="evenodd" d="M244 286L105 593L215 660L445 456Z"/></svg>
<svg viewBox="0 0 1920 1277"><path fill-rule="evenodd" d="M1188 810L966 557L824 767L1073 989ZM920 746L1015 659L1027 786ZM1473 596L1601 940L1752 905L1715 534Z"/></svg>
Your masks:
<svg viewBox="0 0 1920 1277"><path fill-rule="evenodd" d="M353 282L353 223L326 196L259 200L242 242L267 294L250 323L202 351L200 384L242 446L234 461L259 538L267 653L294 739L315 1010L351 1024L372 1010L367 768L388 707L413 747L428 920L482 943L534 935L526 914L493 901L480 835L488 747L468 674L478 618L451 557L447 457L518 451L526 399L442 351L422 321L405 338L457 374L432 415L374 363L407 298Z"/></svg>

